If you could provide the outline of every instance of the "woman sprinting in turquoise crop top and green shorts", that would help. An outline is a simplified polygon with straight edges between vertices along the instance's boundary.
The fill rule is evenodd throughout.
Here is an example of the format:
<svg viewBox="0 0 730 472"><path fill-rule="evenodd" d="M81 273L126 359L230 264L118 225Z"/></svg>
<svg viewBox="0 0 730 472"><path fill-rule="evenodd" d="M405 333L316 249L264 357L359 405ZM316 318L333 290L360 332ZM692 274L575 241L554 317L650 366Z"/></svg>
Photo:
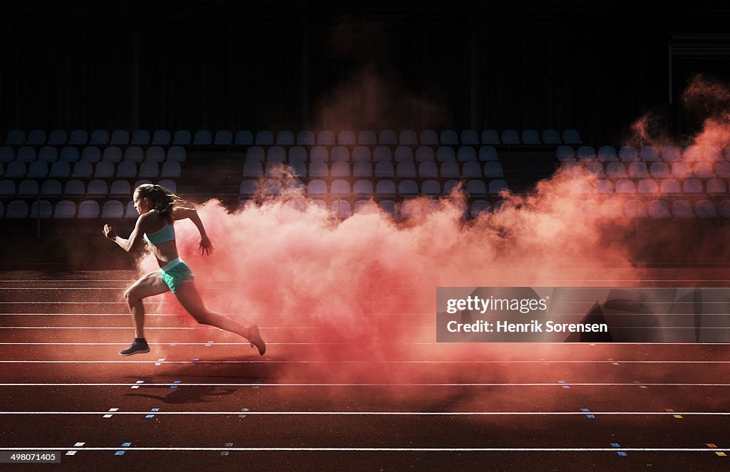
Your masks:
<svg viewBox="0 0 730 472"><path fill-rule="evenodd" d="M171 291L186 312L203 325L212 325L246 338L251 346L258 349L260 355L266 352L266 344L256 325L244 326L231 320L223 314L210 312L200 298L195 287L195 276L188 264L177 255L175 246L175 231L172 222L175 220L190 220L200 231L201 254L210 254L213 245L205 233L203 222L198 212L192 208L176 205L180 198L160 185L143 184L134 190L134 208L139 213L137 224L134 225L129 239L117 236L110 225L104 225L104 236L111 239L126 252L130 252L142 241L147 241L157 258L161 270L150 272L134 282L125 292L124 298L129 306L129 313L134 324L134 342L127 349L119 352L120 355L144 354L150 352L145 340L145 308L142 299Z"/></svg>

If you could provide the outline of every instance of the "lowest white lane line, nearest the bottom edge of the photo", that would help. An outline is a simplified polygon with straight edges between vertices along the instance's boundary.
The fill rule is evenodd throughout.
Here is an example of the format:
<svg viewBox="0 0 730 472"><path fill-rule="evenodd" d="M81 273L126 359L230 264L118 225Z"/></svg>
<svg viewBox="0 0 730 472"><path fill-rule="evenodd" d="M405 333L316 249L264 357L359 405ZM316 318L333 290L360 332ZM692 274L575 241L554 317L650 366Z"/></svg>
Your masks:
<svg viewBox="0 0 730 472"><path fill-rule="evenodd" d="M239 411L240 413L240 411ZM157 414L157 412L155 412ZM0 447L0 451L241 452L727 452L709 447Z"/></svg>

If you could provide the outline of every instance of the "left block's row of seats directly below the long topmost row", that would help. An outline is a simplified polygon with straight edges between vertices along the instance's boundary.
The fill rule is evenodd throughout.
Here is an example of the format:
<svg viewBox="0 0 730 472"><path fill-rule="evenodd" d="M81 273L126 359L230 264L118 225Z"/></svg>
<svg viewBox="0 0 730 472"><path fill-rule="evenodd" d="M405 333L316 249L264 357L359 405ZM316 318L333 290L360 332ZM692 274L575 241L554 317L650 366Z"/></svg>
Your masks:
<svg viewBox="0 0 730 472"><path fill-rule="evenodd" d="M178 162L185 161L187 152L182 146L170 147L167 151L167 160L177 160ZM102 157L103 156L103 157ZM149 160L151 162L163 162L165 160L165 150L159 146L153 146L147 149L147 152L142 151L139 146L128 147L124 152L119 147L110 146L104 149L102 155L99 147L88 146L84 147L81 155L79 155L79 149L73 146L66 146L61 148L59 155L58 150L53 146L44 146L36 154L36 150L31 146L23 146L16 153L12 147L3 146L0 147L0 163L12 162L13 160L19 160L20 162L31 163L35 160L41 162L52 163L56 160L62 162L76 162L79 160L88 160L89 162L99 162L99 160L111 160L112 162L119 162L120 160L131 160L133 162L142 162L143 160Z"/></svg>

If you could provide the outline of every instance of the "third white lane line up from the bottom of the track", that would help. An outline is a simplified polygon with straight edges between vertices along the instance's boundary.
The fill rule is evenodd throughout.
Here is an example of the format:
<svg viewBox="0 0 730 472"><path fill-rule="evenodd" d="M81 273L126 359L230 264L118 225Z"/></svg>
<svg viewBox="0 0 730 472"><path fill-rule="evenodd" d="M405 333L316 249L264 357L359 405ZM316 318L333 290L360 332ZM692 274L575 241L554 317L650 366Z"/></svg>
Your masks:
<svg viewBox="0 0 730 472"><path fill-rule="evenodd" d="M178 387L637 387L646 385L648 387L730 387L730 384L707 384L707 383L594 383L594 382L559 382L553 383L431 383L431 384L383 384L383 383L285 383L285 384L265 384L265 383L231 383L231 384L170 384L170 383L145 383L145 384L121 384L121 383L7 383L0 384L0 387L130 387L139 385L139 387L168 387L177 385Z"/></svg>

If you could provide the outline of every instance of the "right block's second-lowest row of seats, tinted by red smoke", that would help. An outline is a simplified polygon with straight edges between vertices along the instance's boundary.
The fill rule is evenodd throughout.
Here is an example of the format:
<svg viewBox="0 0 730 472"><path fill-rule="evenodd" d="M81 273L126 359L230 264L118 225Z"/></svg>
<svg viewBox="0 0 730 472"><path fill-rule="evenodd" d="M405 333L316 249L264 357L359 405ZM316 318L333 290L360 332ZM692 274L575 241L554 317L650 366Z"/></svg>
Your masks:
<svg viewBox="0 0 730 472"><path fill-rule="evenodd" d="M728 193L728 186L721 179L708 179L705 185L699 179L686 179L681 185L675 179L642 179L634 182L630 179L619 179L615 187L610 180L598 179L593 183L593 189L588 182L576 182L575 189L580 193L647 193L647 194L675 194L675 193L702 193L722 195Z"/></svg>

